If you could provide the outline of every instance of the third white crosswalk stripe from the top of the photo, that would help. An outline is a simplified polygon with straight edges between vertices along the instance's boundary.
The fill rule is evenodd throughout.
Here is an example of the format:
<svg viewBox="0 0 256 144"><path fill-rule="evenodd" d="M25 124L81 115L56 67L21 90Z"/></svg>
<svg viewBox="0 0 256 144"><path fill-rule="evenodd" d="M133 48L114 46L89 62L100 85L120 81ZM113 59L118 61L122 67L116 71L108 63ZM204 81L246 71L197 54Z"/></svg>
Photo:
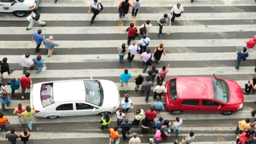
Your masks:
<svg viewBox="0 0 256 144"><path fill-rule="evenodd" d="M124 34L129 26L123 27L47 27L43 28L44 35L54 34ZM138 28L140 26L137 26ZM26 27L0 27L1 35L33 35L35 31L24 31ZM159 33L158 26L153 26L150 33ZM163 27L167 31L168 27ZM211 25L211 26L172 26L171 33L207 33L207 32L238 32L253 31L256 25ZM0 35L0 36L1 36Z"/></svg>

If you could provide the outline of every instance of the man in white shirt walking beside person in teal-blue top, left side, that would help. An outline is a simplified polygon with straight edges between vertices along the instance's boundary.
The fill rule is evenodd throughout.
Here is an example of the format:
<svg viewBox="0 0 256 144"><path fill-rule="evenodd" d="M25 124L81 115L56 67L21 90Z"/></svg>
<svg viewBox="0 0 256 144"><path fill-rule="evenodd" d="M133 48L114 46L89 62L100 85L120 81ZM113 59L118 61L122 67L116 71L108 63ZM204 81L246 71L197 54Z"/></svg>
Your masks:
<svg viewBox="0 0 256 144"><path fill-rule="evenodd" d="M25 55L20 56L20 65L23 69L23 75L27 73L27 68L30 68L30 70L35 68L34 63L35 61L31 59L30 53L26 53Z"/></svg>

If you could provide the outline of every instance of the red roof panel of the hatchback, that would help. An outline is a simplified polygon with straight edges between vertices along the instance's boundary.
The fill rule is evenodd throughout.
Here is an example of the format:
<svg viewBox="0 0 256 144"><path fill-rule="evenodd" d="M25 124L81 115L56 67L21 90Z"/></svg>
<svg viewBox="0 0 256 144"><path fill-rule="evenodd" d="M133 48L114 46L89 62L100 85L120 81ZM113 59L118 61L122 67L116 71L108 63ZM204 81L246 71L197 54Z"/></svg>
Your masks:
<svg viewBox="0 0 256 144"><path fill-rule="evenodd" d="M176 89L180 99L214 99L212 77L178 77Z"/></svg>

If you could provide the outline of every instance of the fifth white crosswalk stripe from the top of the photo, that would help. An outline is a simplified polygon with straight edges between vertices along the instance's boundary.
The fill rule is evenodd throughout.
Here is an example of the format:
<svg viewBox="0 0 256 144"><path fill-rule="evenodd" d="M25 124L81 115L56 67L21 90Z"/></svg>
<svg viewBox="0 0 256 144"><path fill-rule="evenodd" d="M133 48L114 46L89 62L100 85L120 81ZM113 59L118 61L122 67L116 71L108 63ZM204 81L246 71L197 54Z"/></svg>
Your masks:
<svg viewBox="0 0 256 144"><path fill-rule="evenodd" d="M235 50L234 50L235 51ZM37 55L30 55L31 58ZM118 61L116 54L85 54L85 55L54 55L47 57L41 55L44 63L72 63L72 62L106 62ZM7 57L8 63L19 63L20 57L17 55L0 55L1 58ZM161 57L161 61L199 61L199 60L236 60L236 52L208 52L208 53L166 53ZM250 57L246 60L254 60L256 52L250 52ZM68 59L67 59L68 58ZM134 61L141 61L141 59L134 59Z"/></svg>

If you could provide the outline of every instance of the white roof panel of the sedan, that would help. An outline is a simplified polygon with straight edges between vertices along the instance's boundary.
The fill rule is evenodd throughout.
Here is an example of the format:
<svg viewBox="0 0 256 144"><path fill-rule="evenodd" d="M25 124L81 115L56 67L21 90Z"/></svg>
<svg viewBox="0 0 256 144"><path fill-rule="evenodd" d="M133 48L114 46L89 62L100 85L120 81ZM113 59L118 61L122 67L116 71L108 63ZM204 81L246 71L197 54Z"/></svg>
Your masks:
<svg viewBox="0 0 256 144"><path fill-rule="evenodd" d="M53 83L53 98L55 103L63 101L85 101L85 96L83 80Z"/></svg>

